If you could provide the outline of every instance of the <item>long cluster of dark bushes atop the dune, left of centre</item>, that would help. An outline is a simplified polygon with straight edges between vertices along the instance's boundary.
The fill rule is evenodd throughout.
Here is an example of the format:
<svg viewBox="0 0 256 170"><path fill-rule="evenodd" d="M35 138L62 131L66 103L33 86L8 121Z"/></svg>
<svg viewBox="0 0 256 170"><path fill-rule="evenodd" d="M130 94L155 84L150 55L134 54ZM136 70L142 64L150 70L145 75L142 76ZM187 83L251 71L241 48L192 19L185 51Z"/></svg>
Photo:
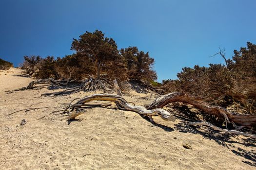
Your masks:
<svg viewBox="0 0 256 170"><path fill-rule="evenodd" d="M80 81L89 77L119 81L136 80L150 83L157 79L154 59L137 47L118 50L112 38L101 31L86 32L73 39L72 55L42 58L24 56L22 68L38 79L55 78Z"/></svg>

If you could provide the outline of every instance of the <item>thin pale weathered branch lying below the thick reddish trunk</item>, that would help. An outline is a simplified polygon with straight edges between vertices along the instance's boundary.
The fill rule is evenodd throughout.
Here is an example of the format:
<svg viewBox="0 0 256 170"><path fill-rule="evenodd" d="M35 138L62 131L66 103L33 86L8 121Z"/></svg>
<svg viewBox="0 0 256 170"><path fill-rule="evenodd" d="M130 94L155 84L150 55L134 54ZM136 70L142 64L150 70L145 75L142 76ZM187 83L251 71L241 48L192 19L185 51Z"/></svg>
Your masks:
<svg viewBox="0 0 256 170"><path fill-rule="evenodd" d="M204 126L209 126L211 128L213 128L214 130L217 130L217 131L221 131L221 132L227 132L227 133L231 133L231 134L237 134L237 135L243 135L243 136L248 136L248 137L252 137L252 138L255 138L256 139L256 135L251 135L251 134L247 134L247 133L244 133L244 132L240 132L240 131L236 131L236 130L231 130L231 129L222 129L222 128L219 128L209 122L206 122L206 121L196 121L196 122L189 122L190 126L196 126L196 125L204 125Z"/></svg>

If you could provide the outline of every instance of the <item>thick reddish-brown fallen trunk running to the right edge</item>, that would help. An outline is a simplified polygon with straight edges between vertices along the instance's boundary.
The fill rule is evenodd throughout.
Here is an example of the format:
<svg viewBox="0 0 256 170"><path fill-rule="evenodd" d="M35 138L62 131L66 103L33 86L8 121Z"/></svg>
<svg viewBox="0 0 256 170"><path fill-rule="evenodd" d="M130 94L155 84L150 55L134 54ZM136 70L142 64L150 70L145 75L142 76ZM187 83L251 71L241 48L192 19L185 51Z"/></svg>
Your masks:
<svg viewBox="0 0 256 170"><path fill-rule="evenodd" d="M235 114L224 107L210 106L205 102L198 101L192 97L188 97L179 92L172 92L155 99L147 109L163 108L165 105L172 102L183 102L193 105L206 114L215 115L217 118L223 119L226 122L235 123L240 126L256 126L256 115L239 115Z"/></svg>

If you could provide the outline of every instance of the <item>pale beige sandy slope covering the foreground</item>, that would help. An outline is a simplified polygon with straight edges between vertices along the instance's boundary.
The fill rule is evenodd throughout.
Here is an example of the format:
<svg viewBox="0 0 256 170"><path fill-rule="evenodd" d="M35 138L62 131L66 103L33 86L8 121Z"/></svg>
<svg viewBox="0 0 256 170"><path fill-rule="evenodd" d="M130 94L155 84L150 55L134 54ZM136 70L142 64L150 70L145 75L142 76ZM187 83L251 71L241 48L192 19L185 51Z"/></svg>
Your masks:
<svg viewBox="0 0 256 170"><path fill-rule="evenodd" d="M137 113L93 108L69 125L61 116L46 117L67 103L92 93L40 97L57 90L17 91L32 78L17 76L20 69L0 72L0 165L4 170L255 170L255 140L209 128L193 128L187 121L153 125ZM132 92L124 98L143 105L151 94ZM114 104L113 104L114 105ZM50 108L22 111L31 107ZM22 119L27 124L21 126ZM192 149L185 149L188 144Z"/></svg>

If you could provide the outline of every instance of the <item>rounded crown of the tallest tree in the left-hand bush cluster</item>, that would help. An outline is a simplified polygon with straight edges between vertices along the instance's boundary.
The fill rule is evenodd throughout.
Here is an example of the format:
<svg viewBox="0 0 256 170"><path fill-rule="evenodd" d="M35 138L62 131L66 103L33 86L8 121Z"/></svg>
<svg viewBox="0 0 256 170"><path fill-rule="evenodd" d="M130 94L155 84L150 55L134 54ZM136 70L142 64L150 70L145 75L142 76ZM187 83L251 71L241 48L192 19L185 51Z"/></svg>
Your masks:
<svg viewBox="0 0 256 170"><path fill-rule="evenodd" d="M112 38L105 37L101 31L86 32L74 39L71 50L75 50L79 63L87 69L87 73L98 80L101 74L113 75L118 69L118 78L126 73L124 60L118 53L118 46ZM112 76L108 76L109 78Z"/></svg>

